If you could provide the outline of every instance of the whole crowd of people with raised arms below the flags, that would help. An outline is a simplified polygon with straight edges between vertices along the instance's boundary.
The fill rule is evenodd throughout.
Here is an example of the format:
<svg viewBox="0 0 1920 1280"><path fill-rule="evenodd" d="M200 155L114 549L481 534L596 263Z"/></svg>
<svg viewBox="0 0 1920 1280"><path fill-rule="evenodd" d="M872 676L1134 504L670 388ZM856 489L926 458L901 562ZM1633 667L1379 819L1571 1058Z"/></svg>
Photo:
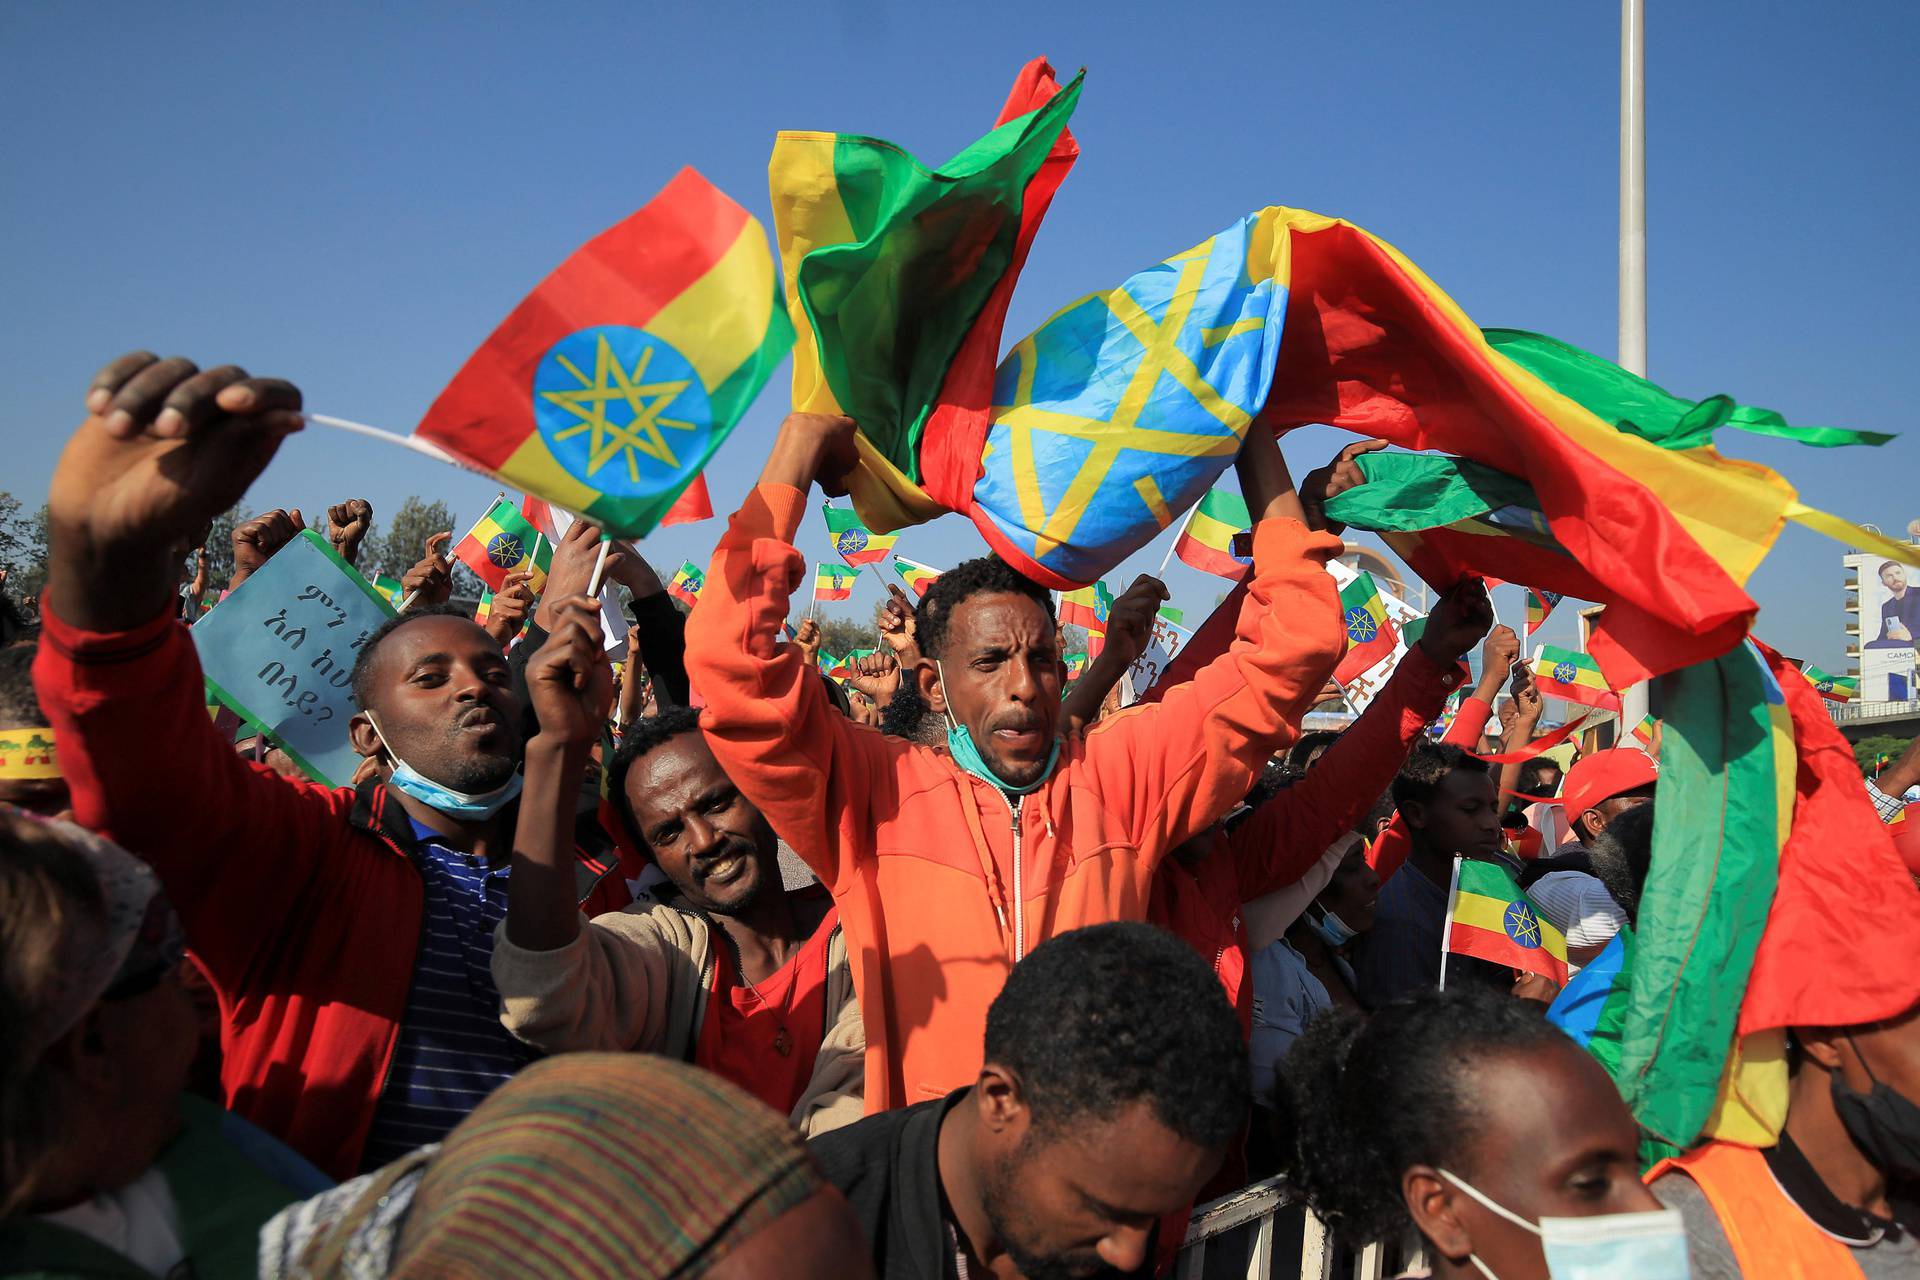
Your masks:
<svg viewBox="0 0 1920 1280"><path fill-rule="evenodd" d="M1068 681L1052 595L991 555L895 593L849 697L785 624L852 424L793 415L691 610L578 522L482 624L426 547L334 789L236 748L182 626L225 583L180 566L300 405L108 365L44 595L8 604L0 731L58 770L0 770L0 1274L1154 1276L1273 1174L1432 1276L1920 1274L1920 1009L1793 1029L1776 1146L1642 1167L1559 1021L1690 800L1636 745L1526 758L1484 583L1302 733L1352 451L1296 487L1252 432L1231 643L1131 706L1165 587ZM330 509L348 560L371 520ZM242 526L240 576L298 526ZM1920 752L1866 798L1908 785ZM1446 956L1455 860L1526 887L1565 990Z"/></svg>

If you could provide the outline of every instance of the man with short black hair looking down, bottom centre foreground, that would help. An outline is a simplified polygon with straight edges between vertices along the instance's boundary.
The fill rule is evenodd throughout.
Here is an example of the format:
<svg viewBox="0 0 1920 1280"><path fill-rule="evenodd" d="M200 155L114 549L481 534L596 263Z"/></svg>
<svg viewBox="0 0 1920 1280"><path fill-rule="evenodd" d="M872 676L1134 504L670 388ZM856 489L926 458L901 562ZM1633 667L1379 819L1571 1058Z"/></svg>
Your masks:
<svg viewBox="0 0 1920 1280"><path fill-rule="evenodd" d="M1152 1274L1248 1105L1246 1050L1206 961L1152 925L1062 933L987 1011L979 1079L808 1144L881 1280Z"/></svg>

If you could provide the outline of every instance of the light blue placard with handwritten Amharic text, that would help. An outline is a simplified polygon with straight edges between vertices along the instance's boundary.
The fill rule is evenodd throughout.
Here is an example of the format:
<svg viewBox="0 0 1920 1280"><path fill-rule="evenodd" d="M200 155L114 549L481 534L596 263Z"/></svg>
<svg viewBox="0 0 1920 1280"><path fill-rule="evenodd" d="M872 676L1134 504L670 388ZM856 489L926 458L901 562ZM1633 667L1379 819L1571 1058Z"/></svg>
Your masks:
<svg viewBox="0 0 1920 1280"><path fill-rule="evenodd" d="M301 771L346 787L353 658L394 606L313 530L280 547L194 624L207 693L267 727Z"/></svg>

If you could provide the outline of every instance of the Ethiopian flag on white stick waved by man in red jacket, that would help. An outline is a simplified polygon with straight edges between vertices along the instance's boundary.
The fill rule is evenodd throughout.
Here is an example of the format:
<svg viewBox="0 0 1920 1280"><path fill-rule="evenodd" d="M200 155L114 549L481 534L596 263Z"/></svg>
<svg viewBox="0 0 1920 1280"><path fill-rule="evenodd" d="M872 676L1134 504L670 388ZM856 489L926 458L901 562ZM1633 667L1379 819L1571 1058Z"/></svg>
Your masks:
<svg viewBox="0 0 1920 1280"><path fill-rule="evenodd" d="M791 345L760 223L682 169L520 299L417 434L639 537Z"/></svg>

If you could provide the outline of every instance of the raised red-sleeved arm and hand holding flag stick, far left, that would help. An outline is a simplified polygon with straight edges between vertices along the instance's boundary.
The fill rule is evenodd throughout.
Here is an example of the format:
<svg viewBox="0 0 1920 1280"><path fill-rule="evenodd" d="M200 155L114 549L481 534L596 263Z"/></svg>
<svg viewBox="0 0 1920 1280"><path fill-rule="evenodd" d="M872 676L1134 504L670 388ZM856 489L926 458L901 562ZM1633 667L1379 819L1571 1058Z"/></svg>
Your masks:
<svg viewBox="0 0 1920 1280"><path fill-rule="evenodd" d="M234 756L173 618L179 547L300 430L300 391L136 353L96 376L86 409L48 493L35 685L75 816L154 865L221 979L278 936L351 802Z"/></svg>

